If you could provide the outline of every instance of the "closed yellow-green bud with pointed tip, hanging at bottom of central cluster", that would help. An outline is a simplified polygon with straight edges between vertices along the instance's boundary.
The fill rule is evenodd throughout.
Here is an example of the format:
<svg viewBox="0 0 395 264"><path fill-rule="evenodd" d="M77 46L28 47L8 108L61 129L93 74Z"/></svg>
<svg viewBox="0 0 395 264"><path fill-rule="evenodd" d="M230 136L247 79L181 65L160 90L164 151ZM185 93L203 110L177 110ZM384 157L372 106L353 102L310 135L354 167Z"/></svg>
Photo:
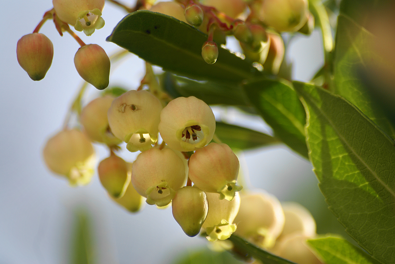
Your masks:
<svg viewBox="0 0 395 264"><path fill-rule="evenodd" d="M207 196L197 187L185 186L179 189L171 208L175 221L188 236L196 236L206 219L209 210Z"/></svg>

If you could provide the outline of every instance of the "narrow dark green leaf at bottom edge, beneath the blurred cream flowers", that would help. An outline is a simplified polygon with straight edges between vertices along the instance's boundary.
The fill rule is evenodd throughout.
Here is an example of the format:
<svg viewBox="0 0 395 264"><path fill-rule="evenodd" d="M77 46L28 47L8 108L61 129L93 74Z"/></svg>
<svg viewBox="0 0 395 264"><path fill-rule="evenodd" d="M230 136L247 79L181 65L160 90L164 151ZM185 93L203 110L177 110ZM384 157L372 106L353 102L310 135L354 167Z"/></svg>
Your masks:
<svg viewBox="0 0 395 264"><path fill-rule="evenodd" d="M253 244L247 242L243 238L232 234L230 238L228 238L231 242L233 242L236 252L241 253L243 255L253 257L255 259L260 260L265 264L295 264L292 261L286 260L284 258L280 258L276 255L273 255Z"/></svg>

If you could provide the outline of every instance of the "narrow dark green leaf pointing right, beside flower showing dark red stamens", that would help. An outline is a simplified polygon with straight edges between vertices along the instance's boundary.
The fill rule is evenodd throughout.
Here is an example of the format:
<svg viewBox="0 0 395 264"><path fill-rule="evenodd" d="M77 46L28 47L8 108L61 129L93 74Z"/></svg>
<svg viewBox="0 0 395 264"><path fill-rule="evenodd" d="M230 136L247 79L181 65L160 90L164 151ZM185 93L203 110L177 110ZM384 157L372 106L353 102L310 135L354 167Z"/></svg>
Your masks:
<svg viewBox="0 0 395 264"><path fill-rule="evenodd" d="M215 134L232 149L245 150L282 143L267 134L222 122L216 122Z"/></svg>

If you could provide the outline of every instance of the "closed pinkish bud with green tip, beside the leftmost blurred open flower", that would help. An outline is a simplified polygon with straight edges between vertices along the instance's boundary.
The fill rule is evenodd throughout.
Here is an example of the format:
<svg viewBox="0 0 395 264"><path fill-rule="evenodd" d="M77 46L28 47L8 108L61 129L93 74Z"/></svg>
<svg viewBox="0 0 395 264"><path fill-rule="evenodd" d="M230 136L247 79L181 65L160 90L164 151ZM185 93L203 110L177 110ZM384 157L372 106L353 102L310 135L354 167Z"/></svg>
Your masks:
<svg viewBox="0 0 395 264"><path fill-rule="evenodd" d="M100 162L98 174L105 190L111 196L120 198L129 185L132 172L128 169L126 161L111 151L111 155Z"/></svg>

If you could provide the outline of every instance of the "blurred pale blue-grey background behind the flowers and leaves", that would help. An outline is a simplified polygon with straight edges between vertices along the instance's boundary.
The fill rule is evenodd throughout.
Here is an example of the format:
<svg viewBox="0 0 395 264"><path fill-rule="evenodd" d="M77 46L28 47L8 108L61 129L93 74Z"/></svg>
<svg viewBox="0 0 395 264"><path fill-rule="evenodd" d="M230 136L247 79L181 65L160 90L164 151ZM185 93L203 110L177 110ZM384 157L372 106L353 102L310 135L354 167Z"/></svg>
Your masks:
<svg viewBox="0 0 395 264"><path fill-rule="evenodd" d="M200 263L193 259L199 254L202 257L196 251L205 250L207 241L186 236L173 219L171 208L158 210L147 205L141 212L130 214L109 199L97 177L86 187L71 188L43 164L43 145L61 129L82 82L73 64L79 45L67 33L60 37L51 20L40 30L54 45L53 63L45 78L33 82L18 65L18 39L31 33L43 13L51 8L50 0L2 2L0 264L87 263L78 262L82 259L76 257L78 254L94 256L89 263L171 264L183 254L188 257L182 263ZM105 42L105 38L125 15L123 10L106 3L104 28L91 37L78 35L85 43L97 43L112 54L117 46ZM240 49L234 39L228 39L227 46ZM309 81L324 61L320 32L293 37L286 59L292 62L293 79ZM130 54L122 63L111 66L110 86L136 89L145 74L143 66L141 59ZM90 86L84 102L97 95L98 91ZM218 120L272 133L261 118L246 117L232 108L213 110ZM96 151L100 160L108 154L99 145ZM130 162L137 155L127 151L123 154ZM297 201L307 207L316 219L318 234L334 232L347 237L327 209L310 162L285 145L246 151L240 160L243 173L249 175L248 187L263 188L280 201ZM79 247L81 243L85 246ZM87 251L79 252L78 248ZM229 262L218 257L217 263Z"/></svg>

